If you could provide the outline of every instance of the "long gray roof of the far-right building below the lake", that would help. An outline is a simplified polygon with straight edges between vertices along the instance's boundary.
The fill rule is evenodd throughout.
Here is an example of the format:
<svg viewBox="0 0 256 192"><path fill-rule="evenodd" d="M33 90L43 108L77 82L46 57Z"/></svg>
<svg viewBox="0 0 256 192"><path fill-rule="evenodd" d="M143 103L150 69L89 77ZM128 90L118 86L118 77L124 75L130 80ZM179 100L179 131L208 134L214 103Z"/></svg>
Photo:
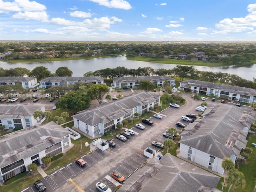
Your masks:
<svg viewBox="0 0 256 192"><path fill-rule="evenodd" d="M236 93L236 94L256 96L255 89L246 88L246 87L238 87L238 86L233 86L233 85L225 85L225 84L212 83L212 82L199 81L199 80L186 80L186 81L182 81L180 83L190 84L190 85L196 86L196 87L219 89L222 91Z"/></svg>

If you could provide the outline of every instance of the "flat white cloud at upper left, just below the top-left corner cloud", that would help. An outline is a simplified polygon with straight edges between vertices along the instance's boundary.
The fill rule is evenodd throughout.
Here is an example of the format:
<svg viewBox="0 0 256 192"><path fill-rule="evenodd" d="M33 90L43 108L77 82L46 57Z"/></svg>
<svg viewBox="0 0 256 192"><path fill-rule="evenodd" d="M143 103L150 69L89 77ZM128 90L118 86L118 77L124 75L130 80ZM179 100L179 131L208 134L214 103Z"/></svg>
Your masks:
<svg viewBox="0 0 256 192"><path fill-rule="evenodd" d="M12 18L48 22L48 15L45 11L35 11L35 12L25 11L24 13L18 12L14 14Z"/></svg>

